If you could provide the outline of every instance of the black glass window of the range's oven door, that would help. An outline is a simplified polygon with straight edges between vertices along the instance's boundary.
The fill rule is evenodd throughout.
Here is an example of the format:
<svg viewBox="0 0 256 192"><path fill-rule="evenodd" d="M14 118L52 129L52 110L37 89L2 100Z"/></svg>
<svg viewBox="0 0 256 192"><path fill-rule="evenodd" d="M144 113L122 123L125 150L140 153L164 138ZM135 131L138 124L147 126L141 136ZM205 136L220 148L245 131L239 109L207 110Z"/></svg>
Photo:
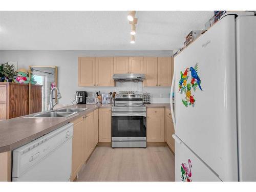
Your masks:
<svg viewBox="0 0 256 192"><path fill-rule="evenodd" d="M112 137L146 137L143 116L113 116Z"/></svg>

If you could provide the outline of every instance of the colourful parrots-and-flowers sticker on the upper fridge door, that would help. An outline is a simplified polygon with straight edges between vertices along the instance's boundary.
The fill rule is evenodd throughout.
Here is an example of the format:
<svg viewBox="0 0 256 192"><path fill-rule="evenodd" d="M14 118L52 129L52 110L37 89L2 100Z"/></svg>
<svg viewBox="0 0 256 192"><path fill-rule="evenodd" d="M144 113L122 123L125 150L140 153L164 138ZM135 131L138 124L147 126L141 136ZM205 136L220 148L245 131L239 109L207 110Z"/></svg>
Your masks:
<svg viewBox="0 0 256 192"><path fill-rule="evenodd" d="M189 74L190 72L190 74ZM201 87L201 79L198 75L198 63L194 67L186 68L184 73L180 72L179 93L185 94L185 98L181 99L184 106L195 106L195 95L197 87L203 91ZM194 93L193 93L193 92Z"/></svg>

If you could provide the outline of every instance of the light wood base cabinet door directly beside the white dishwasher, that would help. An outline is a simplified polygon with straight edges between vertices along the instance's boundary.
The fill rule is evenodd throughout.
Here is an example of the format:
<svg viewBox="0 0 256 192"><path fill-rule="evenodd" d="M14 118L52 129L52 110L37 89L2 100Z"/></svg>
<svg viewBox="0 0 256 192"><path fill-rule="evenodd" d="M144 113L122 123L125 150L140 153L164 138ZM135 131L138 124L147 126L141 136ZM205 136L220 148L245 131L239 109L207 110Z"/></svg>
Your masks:
<svg viewBox="0 0 256 192"><path fill-rule="evenodd" d="M72 173L71 181L73 181L83 164L83 118L79 117L73 121L73 143L72 143Z"/></svg>

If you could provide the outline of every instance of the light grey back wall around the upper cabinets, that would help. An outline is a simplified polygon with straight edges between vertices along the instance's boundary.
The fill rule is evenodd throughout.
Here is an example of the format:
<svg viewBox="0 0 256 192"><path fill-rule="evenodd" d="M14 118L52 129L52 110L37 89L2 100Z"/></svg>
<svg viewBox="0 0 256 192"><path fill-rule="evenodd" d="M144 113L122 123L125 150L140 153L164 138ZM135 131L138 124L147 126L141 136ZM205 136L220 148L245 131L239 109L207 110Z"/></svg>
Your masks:
<svg viewBox="0 0 256 192"><path fill-rule="evenodd" d="M57 66L58 88L62 98L59 103L71 104L76 91L88 91L89 95L96 95L96 91L109 93L119 91L120 87L78 87L77 68L79 56L104 57L104 56L172 56L173 51L127 51L127 50L90 50L90 51L32 51L32 50L0 50L0 63L17 61L18 69L29 69L29 66ZM121 88L130 91L132 88ZM152 94L152 102L169 102L170 88L143 88L144 93Z"/></svg>

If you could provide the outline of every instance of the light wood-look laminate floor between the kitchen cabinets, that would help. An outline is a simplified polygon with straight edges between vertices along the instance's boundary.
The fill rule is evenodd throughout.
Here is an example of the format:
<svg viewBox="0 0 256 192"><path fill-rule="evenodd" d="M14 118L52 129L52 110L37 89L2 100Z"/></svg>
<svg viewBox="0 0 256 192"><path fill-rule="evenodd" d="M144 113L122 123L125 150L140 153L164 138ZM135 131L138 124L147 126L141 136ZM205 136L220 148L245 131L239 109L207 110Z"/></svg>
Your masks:
<svg viewBox="0 0 256 192"><path fill-rule="evenodd" d="M166 146L98 146L77 181L174 181L174 155Z"/></svg>

